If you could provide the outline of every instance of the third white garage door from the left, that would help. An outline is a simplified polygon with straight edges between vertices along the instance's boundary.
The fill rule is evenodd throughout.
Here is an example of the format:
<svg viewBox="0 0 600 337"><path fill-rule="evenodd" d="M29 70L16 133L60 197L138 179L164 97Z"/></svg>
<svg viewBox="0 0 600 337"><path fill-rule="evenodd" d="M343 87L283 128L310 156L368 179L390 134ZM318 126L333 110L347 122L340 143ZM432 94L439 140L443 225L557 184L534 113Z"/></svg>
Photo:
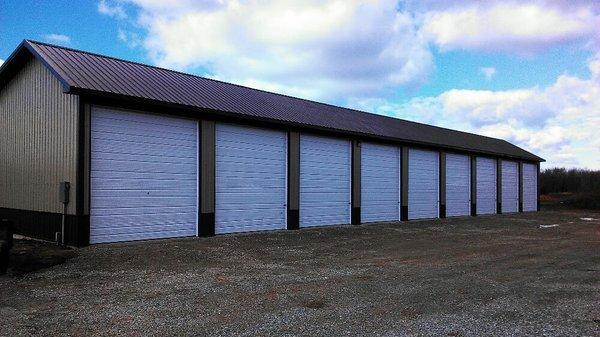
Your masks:
<svg viewBox="0 0 600 337"><path fill-rule="evenodd" d="M300 227L350 223L347 140L300 135Z"/></svg>

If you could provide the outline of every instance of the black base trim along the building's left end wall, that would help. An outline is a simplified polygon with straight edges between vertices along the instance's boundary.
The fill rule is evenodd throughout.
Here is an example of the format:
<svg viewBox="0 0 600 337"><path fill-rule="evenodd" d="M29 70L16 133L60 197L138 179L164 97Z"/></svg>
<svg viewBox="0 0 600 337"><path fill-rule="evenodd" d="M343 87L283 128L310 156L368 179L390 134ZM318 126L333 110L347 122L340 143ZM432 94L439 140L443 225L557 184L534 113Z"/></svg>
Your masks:
<svg viewBox="0 0 600 337"><path fill-rule="evenodd" d="M16 234L54 242L61 231L62 214L0 208L0 219L13 222ZM71 215L65 218L65 242L69 246L90 244L90 216Z"/></svg>

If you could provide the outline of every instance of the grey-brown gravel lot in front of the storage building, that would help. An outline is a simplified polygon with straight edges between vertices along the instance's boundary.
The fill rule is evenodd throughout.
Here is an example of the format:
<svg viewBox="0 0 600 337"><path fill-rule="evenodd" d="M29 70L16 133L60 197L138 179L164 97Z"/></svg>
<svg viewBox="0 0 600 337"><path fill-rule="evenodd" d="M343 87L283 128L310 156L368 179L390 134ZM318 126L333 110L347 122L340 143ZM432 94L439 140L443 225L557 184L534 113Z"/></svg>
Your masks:
<svg viewBox="0 0 600 337"><path fill-rule="evenodd" d="M600 220L588 217L600 214L92 246L0 277L0 334L598 336Z"/></svg>

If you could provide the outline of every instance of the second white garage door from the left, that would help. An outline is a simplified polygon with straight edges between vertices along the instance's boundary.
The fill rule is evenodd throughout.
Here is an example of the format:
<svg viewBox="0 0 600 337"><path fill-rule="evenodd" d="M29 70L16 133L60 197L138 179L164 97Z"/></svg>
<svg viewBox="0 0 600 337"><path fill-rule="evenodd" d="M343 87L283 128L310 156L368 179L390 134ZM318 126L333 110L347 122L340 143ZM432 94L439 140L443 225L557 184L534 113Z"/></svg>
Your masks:
<svg viewBox="0 0 600 337"><path fill-rule="evenodd" d="M286 228L287 134L216 125L215 233Z"/></svg>

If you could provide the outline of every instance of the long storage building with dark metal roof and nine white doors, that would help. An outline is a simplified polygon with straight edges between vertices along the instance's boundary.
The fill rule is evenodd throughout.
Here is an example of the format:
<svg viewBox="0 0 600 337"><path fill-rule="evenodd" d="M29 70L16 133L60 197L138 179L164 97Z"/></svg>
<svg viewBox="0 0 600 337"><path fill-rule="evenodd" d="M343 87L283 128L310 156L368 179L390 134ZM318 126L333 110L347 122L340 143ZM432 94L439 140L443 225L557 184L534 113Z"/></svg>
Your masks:
<svg viewBox="0 0 600 337"><path fill-rule="evenodd" d="M77 246L539 207L504 140L33 41L0 123L0 218Z"/></svg>

